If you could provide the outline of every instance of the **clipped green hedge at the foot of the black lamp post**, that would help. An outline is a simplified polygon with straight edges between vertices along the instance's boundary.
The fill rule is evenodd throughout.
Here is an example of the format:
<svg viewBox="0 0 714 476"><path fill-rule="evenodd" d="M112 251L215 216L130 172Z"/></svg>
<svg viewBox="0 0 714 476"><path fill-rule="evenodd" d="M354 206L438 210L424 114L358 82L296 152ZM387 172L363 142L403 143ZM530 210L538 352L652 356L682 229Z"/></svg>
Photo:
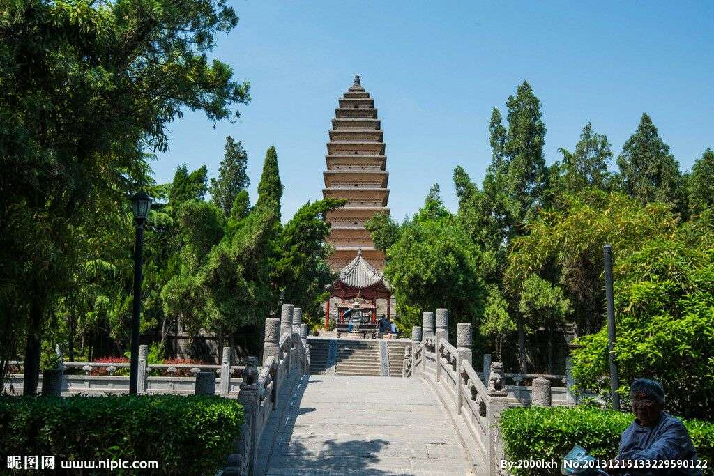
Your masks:
<svg viewBox="0 0 714 476"><path fill-rule="evenodd" d="M55 455L56 467L153 460L157 474L213 475L242 423L243 406L221 397L0 397L0 467L9 455Z"/></svg>

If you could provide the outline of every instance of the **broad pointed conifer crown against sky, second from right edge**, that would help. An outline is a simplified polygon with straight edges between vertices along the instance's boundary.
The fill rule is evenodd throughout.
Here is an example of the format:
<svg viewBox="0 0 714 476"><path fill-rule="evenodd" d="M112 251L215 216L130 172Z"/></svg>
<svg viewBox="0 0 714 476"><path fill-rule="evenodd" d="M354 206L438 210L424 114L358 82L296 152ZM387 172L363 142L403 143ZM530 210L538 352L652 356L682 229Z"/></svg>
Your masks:
<svg viewBox="0 0 714 476"><path fill-rule="evenodd" d="M685 191L679 163L660 138L646 113L618 157L625 193L640 203L670 203L673 210L685 211Z"/></svg>

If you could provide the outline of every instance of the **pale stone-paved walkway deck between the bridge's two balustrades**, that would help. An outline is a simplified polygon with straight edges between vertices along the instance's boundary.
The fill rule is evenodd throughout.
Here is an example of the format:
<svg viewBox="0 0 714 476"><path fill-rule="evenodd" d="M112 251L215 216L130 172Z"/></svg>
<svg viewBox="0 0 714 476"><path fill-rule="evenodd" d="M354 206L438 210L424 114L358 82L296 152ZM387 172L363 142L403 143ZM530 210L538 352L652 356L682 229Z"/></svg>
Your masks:
<svg viewBox="0 0 714 476"><path fill-rule="evenodd" d="M259 452L268 475L471 474L441 401L416 378L305 376L273 430Z"/></svg>

